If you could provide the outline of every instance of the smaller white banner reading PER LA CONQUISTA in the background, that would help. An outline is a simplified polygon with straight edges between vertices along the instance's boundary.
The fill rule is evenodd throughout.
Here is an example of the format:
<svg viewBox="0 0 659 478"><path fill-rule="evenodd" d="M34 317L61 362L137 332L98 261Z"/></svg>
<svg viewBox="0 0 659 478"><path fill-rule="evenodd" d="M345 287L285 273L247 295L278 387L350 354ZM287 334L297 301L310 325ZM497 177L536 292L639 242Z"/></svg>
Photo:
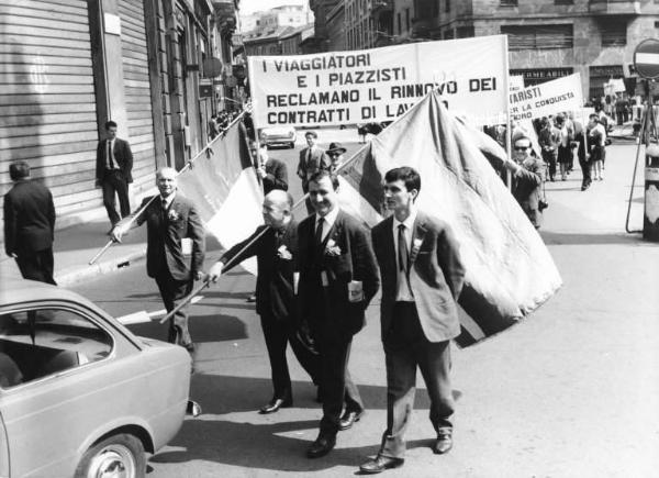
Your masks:
<svg viewBox="0 0 659 478"><path fill-rule="evenodd" d="M512 121L574 111L582 105L581 76L578 73L510 93Z"/></svg>

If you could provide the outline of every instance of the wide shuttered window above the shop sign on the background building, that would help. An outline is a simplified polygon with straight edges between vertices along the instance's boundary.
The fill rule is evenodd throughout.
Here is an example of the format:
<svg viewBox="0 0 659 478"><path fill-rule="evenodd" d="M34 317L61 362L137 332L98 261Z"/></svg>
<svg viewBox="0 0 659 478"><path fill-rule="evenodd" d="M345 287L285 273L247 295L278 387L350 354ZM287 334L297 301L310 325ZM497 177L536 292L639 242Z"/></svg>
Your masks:
<svg viewBox="0 0 659 478"><path fill-rule="evenodd" d="M572 48L572 25L502 25L501 33L509 35L509 49Z"/></svg>

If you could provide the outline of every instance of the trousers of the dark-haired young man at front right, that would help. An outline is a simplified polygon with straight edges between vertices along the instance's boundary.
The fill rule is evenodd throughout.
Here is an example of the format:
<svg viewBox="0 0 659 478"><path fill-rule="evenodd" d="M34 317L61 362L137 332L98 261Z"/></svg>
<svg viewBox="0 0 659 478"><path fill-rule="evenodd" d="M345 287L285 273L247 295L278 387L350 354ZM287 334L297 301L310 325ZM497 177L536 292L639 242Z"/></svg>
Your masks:
<svg viewBox="0 0 659 478"><path fill-rule="evenodd" d="M455 409L450 386L449 341L432 343L425 337L414 302L396 302L393 323L384 340L387 362L387 430L383 456L402 458L404 433L412 419L416 367L431 398L431 422L437 433L453 430Z"/></svg>

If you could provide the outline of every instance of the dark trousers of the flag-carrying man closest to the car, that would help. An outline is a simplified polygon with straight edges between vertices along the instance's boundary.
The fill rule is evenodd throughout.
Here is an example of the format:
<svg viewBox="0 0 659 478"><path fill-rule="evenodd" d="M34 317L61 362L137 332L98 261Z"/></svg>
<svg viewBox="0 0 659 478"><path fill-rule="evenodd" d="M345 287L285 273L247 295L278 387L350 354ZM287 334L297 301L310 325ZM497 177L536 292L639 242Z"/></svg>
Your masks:
<svg viewBox="0 0 659 478"><path fill-rule="evenodd" d="M192 279L177 280L171 277L168 270L160 271L155 279L167 312L174 310L180 300L186 298L192 290ZM189 303L169 319L169 333L167 336L169 343L182 345L183 347L192 344L190 331L188 330L188 307Z"/></svg>

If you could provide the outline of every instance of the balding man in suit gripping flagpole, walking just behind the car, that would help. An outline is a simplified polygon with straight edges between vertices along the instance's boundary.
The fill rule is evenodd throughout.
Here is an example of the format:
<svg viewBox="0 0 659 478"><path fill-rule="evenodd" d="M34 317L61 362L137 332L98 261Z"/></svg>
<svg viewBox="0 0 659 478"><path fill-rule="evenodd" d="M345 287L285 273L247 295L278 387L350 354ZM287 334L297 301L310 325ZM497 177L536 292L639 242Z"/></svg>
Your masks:
<svg viewBox="0 0 659 478"><path fill-rule="evenodd" d="M158 170L156 184L160 194L131 223L131 226L139 226L146 222L146 273L156 279L168 312L192 291L194 280L203 277L205 252L201 218L194 204L177 192L176 176L172 168ZM150 199L144 199L142 205ZM130 229L129 221L129 218L123 219L112 230L114 241L121 242ZM171 318L168 341L193 352L187 309L183 307Z"/></svg>

